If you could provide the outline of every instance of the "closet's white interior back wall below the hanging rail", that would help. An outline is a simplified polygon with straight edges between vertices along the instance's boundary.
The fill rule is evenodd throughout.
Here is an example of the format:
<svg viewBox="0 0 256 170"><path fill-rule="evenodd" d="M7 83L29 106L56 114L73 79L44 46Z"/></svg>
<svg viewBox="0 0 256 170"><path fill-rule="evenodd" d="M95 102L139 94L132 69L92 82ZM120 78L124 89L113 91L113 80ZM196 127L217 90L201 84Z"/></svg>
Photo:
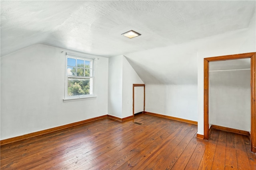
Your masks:
<svg viewBox="0 0 256 170"><path fill-rule="evenodd" d="M209 72L209 82L210 124L251 131L250 70Z"/></svg>

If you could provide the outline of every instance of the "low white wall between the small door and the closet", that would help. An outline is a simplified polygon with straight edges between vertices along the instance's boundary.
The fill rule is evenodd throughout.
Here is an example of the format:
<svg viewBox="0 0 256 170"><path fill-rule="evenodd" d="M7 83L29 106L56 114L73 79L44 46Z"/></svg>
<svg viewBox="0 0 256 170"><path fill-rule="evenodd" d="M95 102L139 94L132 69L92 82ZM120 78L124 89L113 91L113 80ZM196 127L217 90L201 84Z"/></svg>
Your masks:
<svg viewBox="0 0 256 170"><path fill-rule="evenodd" d="M197 86L146 84L145 111L197 121Z"/></svg>

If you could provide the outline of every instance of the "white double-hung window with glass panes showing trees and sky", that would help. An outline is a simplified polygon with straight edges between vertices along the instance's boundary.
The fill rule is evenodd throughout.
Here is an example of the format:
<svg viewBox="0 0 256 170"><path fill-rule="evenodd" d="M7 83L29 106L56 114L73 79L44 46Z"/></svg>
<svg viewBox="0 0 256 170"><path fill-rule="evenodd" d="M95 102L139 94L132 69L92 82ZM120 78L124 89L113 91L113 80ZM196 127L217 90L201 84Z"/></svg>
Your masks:
<svg viewBox="0 0 256 170"><path fill-rule="evenodd" d="M79 55L80 56L80 55ZM65 99L94 96L94 59L66 55Z"/></svg>

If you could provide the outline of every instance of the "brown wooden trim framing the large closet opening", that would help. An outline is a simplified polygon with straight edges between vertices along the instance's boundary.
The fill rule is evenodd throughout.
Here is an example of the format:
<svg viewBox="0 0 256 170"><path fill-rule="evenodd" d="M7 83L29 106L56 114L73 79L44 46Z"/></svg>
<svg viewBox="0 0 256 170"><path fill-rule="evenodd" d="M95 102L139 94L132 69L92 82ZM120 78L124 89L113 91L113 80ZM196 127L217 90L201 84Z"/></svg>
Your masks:
<svg viewBox="0 0 256 170"><path fill-rule="evenodd" d="M209 139L209 62L250 58L251 64L251 151L256 152L256 53L209 57L204 59L204 139Z"/></svg>

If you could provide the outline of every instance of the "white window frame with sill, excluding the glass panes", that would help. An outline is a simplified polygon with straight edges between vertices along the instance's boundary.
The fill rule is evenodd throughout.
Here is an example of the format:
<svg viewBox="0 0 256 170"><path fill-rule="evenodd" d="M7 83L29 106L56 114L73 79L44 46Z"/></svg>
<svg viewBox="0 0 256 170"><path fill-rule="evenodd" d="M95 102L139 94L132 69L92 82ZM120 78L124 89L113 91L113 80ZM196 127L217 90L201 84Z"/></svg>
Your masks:
<svg viewBox="0 0 256 170"><path fill-rule="evenodd" d="M92 75L91 76L70 76L68 75L68 58L73 58L73 59L81 59L81 60L86 60L86 61L91 61L92 62ZM66 54L66 62L65 62L65 99L63 100L64 102L69 102L69 101L76 101L76 100L88 100L88 99L94 99L96 98L95 95L95 83L94 83L94 60L95 58L84 56L84 55L76 55L76 54ZM68 78L90 78L90 94L87 95L80 95L80 96L68 96Z"/></svg>

